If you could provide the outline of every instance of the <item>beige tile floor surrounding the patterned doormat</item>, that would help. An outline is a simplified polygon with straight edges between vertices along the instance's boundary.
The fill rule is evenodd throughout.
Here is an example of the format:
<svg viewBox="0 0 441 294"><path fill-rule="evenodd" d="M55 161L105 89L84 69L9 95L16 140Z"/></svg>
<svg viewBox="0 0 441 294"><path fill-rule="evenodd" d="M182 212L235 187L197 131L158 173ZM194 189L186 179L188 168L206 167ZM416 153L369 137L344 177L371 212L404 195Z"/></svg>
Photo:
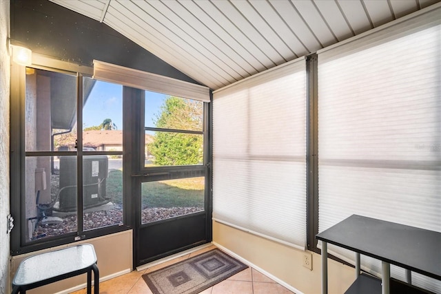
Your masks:
<svg viewBox="0 0 441 294"><path fill-rule="evenodd" d="M181 256L180 258L175 258L169 262L164 262L163 264L158 264L152 266L144 271L132 271L132 273L127 273L121 275L120 277L115 277L112 280L107 280L99 284L99 292L101 294L152 294L150 288L145 284L143 278L141 277L145 273L155 271L156 269L161 269L164 266L174 264L175 262L180 262L187 258L191 258L194 255L201 254L205 251L216 248L215 246L209 246L207 248L189 253L187 255ZM81 289L79 291L72 292L71 294L85 294L86 290ZM92 291L93 293L93 291ZM256 271L256 269L248 268L227 280L220 282L207 290L202 291L200 294L293 294L284 286L274 282L266 275Z"/></svg>

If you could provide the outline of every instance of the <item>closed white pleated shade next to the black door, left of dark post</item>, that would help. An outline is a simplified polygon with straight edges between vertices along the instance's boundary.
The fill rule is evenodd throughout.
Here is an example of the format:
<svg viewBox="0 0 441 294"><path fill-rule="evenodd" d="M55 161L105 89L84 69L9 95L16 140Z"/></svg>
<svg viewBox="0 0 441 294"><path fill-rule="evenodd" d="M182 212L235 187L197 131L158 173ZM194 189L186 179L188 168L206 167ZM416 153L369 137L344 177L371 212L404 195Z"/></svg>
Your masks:
<svg viewBox="0 0 441 294"><path fill-rule="evenodd" d="M305 249L305 59L214 92L213 216Z"/></svg>

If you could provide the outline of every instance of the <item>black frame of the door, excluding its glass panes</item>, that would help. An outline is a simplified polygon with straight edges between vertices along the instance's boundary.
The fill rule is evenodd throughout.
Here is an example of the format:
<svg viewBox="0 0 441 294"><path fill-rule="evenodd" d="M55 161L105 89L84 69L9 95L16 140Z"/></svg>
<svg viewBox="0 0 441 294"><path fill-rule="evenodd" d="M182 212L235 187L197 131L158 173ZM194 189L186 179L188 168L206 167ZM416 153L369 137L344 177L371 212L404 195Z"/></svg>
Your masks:
<svg viewBox="0 0 441 294"><path fill-rule="evenodd" d="M140 266L160 258L191 249L195 246L212 241L212 105L204 103L204 162L198 166L179 167L156 167L145 169L144 162L144 91L130 87L124 87L123 96L127 97L124 104L125 117L125 195L127 198L127 223L133 228L133 266ZM210 92L212 96L212 92ZM194 176L205 176L205 209L198 213L191 213L185 216L178 216L150 224L141 224L141 183L174 178L190 178ZM192 228L187 231L183 228ZM166 233L165 233L166 232ZM160 237L161 236L161 237ZM163 246L161 253L152 250L152 256L143 257L143 242L150 242L162 238L156 242L157 246ZM178 240L178 242L176 242ZM157 241L157 240L156 240ZM165 244L176 242L172 249Z"/></svg>

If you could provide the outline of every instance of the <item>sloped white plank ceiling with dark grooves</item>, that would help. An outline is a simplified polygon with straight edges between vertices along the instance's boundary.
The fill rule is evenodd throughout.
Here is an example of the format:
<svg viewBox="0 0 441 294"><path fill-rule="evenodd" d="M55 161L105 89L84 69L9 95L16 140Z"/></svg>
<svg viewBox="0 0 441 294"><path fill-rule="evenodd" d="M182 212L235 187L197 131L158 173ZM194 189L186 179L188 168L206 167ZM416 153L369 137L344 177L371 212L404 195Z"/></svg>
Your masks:
<svg viewBox="0 0 441 294"><path fill-rule="evenodd" d="M217 90L440 0L51 0Z"/></svg>

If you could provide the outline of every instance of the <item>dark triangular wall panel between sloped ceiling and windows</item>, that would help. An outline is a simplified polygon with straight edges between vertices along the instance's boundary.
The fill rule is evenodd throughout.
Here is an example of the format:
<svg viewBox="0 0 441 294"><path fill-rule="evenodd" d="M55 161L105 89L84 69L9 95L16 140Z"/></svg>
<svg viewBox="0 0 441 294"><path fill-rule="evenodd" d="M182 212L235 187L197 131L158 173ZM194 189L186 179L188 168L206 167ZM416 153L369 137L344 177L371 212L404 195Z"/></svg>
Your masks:
<svg viewBox="0 0 441 294"><path fill-rule="evenodd" d="M94 59L196 83L105 23L47 0L11 1L12 43L62 61Z"/></svg>

